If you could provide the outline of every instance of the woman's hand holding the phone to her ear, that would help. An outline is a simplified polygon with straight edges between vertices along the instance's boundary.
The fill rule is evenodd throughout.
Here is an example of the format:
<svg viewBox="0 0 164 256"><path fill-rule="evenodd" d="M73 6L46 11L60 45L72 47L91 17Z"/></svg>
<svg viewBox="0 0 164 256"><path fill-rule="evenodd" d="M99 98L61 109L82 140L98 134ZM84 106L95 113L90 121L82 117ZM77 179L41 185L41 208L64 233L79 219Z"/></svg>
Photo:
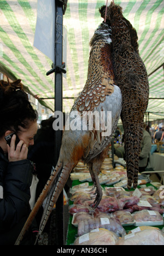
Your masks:
<svg viewBox="0 0 164 256"><path fill-rule="evenodd" d="M17 144L15 149L15 140L16 140L16 135L13 135L13 137L11 138L10 146L7 145L9 162L15 162L15 161L27 159L27 154L28 154L27 145L24 143L24 141L20 141Z"/></svg>

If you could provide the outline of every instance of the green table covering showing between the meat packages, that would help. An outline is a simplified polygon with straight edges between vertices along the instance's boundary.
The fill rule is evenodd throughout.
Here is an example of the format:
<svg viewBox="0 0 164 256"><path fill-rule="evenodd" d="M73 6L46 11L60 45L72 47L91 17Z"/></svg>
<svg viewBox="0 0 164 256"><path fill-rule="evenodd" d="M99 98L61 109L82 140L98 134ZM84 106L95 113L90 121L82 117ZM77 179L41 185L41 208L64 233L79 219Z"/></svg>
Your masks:
<svg viewBox="0 0 164 256"><path fill-rule="evenodd" d="M79 181L73 181L72 182L72 187L74 187L75 185L79 185L81 184L81 182ZM89 185L93 185L92 182L89 182ZM149 187L150 185L153 186L150 183L146 184L147 187ZM113 185L107 186L107 185L102 185L102 187L114 187ZM154 187L154 186L153 186ZM138 186L138 188L140 188L140 186ZM155 189L157 189L156 187L154 187ZM134 190L134 189L131 189ZM69 205L73 205L73 202L71 200L69 200ZM74 225L72 225L72 218L73 216L70 214L70 218L69 218L69 224L68 224L68 231L67 231L67 240L66 240L66 245L73 245L75 238L78 237L78 228L75 227ZM164 225L160 225L160 226L156 226L159 229L162 229L164 227ZM128 233L128 231L135 229L136 226L124 226L124 229L126 230L126 232Z"/></svg>

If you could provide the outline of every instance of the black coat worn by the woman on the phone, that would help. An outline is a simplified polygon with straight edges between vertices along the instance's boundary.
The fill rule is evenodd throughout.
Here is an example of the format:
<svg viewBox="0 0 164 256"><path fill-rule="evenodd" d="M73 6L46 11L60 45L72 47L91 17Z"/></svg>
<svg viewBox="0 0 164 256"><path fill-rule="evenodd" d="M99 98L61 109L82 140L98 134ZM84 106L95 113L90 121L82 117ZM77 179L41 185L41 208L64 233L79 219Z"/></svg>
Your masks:
<svg viewBox="0 0 164 256"><path fill-rule="evenodd" d="M31 161L9 162L0 148L0 186L3 188L3 199L0 199L0 245L14 245L30 214L31 182ZM31 245L29 232L22 244Z"/></svg>

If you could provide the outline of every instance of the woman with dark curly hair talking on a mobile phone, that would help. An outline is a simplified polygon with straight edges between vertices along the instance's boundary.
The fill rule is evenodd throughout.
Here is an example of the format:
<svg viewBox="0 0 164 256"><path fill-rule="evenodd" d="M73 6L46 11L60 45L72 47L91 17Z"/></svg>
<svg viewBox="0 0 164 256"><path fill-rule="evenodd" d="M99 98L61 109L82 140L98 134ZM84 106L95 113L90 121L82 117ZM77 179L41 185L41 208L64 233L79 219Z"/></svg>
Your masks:
<svg viewBox="0 0 164 256"><path fill-rule="evenodd" d="M13 135L14 133L14 135ZM0 245L14 245L30 213L33 166L28 147L37 133L37 113L21 80L0 81ZM10 143L6 137L11 137ZM18 144L15 143L19 138ZM32 230L22 244L32 245Z"/></svg>

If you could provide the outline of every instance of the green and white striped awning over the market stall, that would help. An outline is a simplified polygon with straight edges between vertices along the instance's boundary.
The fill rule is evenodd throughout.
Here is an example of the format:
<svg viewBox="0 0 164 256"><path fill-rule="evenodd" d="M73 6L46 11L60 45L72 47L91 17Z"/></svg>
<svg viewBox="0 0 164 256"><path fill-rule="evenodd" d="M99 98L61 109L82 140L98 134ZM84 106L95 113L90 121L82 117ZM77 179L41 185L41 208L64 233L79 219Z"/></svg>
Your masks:
<svg viewBox="0 0 164 256"><path fill-rule="evenodd" d="M68 0L63 16L67 34L67 74L63 76L63 110L69 112L83 89L89 60L89 42L102 22L98 9L107 0ZM138 33L139 53L147 67L150 100L149 120L164 117L164 1L122 0L126 19ZM47 1L49 3L49 0ZM108 1L108 5L110 1ZM37 21L37 0L0 1L0 71L21 78L26 90L54 110L54 74L46 76L52 61L33 46ZM148 115L148 114L147 114Z"/></svg>

